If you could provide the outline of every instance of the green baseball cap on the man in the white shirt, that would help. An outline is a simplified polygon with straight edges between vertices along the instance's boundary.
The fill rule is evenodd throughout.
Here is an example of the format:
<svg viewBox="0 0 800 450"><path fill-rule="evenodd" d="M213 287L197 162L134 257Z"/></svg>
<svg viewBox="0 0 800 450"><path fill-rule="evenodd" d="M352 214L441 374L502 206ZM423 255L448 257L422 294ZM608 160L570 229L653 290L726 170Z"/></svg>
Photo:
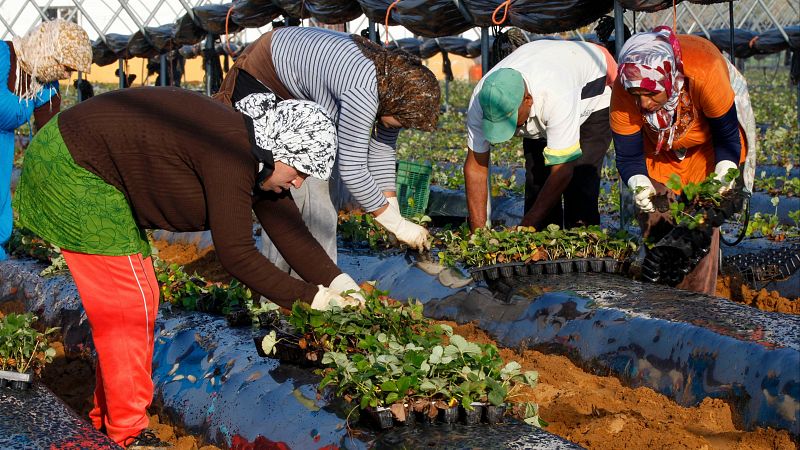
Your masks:
<svg viewBox="0 0 800 450"><path fill-rule="evenodd" d="M517 131L517 111L525 96L525 81L514 69L497 69L483 81L478 101L483 109L483 136L492 144L507 141Z"/></svg>

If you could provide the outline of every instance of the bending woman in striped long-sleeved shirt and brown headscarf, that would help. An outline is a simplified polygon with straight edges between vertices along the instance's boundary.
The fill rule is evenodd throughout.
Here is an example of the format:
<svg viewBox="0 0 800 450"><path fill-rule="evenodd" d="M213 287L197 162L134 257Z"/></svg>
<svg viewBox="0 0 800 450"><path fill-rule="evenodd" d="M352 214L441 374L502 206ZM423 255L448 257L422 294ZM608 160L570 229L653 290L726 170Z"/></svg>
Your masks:
<svg viewBox="0 0 800 450"><path fill-rule="evenodd" d="M400 241L420 250L429 245L427 231L400 216L395 194L399 129L436 128L440 92L429 69L361 36L286 27L248 46L215 98L230 105L264 91L322 105L337 124L338 178L344 187ZM292 196L314 237L336 261L337 211L328 184L306 182ZM266 243L267 236L262 238ZM273 246L264 249L288 269Z"/></svg>

